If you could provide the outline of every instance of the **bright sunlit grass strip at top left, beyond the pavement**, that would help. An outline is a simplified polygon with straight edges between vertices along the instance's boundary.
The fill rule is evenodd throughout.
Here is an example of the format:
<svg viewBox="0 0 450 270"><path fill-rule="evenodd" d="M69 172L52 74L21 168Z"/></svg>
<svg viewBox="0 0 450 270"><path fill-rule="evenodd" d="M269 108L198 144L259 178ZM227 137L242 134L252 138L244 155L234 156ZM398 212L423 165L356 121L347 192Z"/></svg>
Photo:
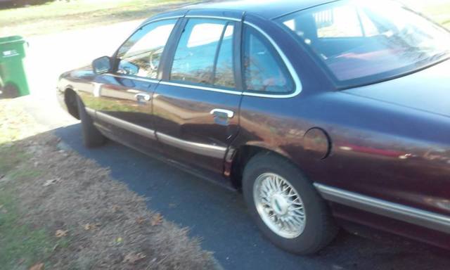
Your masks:
<svg viewBox="0 0 450 270"><path fill-rule="evenodd" d="M79 0L0 10L0 36L30 36L148 18L193 0Z"/></svg>

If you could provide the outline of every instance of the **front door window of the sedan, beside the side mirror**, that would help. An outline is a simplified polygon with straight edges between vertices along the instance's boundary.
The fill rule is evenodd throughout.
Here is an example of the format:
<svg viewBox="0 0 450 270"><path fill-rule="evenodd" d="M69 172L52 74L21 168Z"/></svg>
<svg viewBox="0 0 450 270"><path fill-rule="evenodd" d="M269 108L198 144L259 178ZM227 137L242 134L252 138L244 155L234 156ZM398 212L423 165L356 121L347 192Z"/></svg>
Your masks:
<svg viewBox="0 0 450 270"><path fill-rule="evenodd" d="M117 53L117 72L156 79L162 51L175 24L176 20L162 20L135 32Z"/></svg>

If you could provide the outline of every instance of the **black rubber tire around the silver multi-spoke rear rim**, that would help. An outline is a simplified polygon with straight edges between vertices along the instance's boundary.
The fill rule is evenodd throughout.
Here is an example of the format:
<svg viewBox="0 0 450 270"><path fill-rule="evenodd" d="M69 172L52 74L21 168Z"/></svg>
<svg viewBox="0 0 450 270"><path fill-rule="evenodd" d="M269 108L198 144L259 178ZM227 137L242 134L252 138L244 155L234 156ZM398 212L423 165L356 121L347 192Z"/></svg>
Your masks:
<svg viewBox="0 0 450 270"><path fill-rule="evenodd" d="M260 217L253 198L253 186L258 176L266 173L278 174L283 177L300 195L306 216L304 229L300 236L295 238L279 236ZM278 155L258 154L248 162L243 172L243 193L250 215L256 221L259 229L264 236L283 250L298 255L311 255L328 245L338 233L338 226L335 225L328 205L311 181L306 179L295 165Z"/></svg>

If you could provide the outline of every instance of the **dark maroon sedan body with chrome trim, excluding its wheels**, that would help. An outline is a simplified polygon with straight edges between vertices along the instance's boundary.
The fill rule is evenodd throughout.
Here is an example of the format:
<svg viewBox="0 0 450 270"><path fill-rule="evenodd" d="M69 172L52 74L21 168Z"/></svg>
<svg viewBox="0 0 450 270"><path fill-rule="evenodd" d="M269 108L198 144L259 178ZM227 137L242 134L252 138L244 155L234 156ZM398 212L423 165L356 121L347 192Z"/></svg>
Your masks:
<svg viewBox="0 0 450 270"><path fill-rule="evenodd" d="M309 179L314 186L311 192L326 200L338 224L363 224L449 248L450 62L442 55L426 65L416 63L411 70L387 75L386 65L367 69L360 59L352 58L354 51L332 60L318 58L309 48L311 40L304 37L306 30L295 31L300 40L285 27L291 25L294 30L289 20L297 12L300 15L295 18L306 18L304 12L311 8L342 2L352 3L225 2L157 15L146 20L112 58L94 61L99 70L89 66L61 75L59 99L78 118L79 99L96 129L108 138L232 188L243 186L241 179L252 158L261 153L276 156ZM314 13L316 28L337 20L329 15L326 10ZM158 23L155 29L166 28L155 31L167 43L150 42L154 50L146 56L145 66L126 62L139 58L139 53L127 58L125 52L143 38L139 31ZM203 27L196 36L192 34L195 27ZM185 32L192 36L186 39ZM210 71L204 73L198 67L213 54L208 45L212 41L199 38L202 35L221 40L211 58L214 67L205 68ZM385 36L383 40L392 33ZM323 44L336 50L340 46L333 42L354 41L362 39L324 39ZM250 59L245 53L250 55L251 49L245 44L266 49L258 47ZM229 59L221 62L221 53ZM354 63L340 63L342 57ZM367 57L363 60L372 59ZM388 59L392 56L377 57L386 58L387 66L394 65ZM265 70L248 68L259 58L265 59L257 64ZM232 68L227 70L230 63ZM335 70L330 72L324 63ZM274 65L280 67L275 73L283 75L255 79L252 89L258 90L250 91L245 78L269 74ZM385 77L335 78L373 70L383 70ZM278 84L290 91L283 92ZM277 198L273 202L284 203ZM277 245L298 253L317 250Z"/></svg>

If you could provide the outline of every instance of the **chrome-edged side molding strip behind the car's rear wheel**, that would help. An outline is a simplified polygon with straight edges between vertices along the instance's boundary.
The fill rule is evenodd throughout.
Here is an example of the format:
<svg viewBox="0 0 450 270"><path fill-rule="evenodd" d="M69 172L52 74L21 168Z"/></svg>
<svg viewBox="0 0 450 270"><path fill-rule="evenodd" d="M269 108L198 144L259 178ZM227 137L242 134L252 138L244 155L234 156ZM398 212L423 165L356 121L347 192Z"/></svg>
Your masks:
<svg viewBox="0 0 450 270"><path fill-rule="evenodd" d="M323 184L314 183L314 186L324 199L331 202L340 203L373 214L380 214L385 217L405 221L443 233L450 233L450 217L443 214L420 210L398 203L391 203L386 200L372 198Z"/></svg>

